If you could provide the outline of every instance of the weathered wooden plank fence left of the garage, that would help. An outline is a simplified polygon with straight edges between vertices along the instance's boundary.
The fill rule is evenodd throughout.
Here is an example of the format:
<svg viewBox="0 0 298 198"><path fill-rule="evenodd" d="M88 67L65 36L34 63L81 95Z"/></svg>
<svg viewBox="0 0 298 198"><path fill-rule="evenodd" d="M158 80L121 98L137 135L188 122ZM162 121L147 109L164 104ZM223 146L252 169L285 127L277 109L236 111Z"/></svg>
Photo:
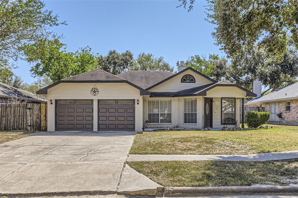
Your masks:
<svg viewBox="0 0 298 198"><path fill-rule="evenodd" d="M46 131L46 104L0 104L0 130Z"/></svg>

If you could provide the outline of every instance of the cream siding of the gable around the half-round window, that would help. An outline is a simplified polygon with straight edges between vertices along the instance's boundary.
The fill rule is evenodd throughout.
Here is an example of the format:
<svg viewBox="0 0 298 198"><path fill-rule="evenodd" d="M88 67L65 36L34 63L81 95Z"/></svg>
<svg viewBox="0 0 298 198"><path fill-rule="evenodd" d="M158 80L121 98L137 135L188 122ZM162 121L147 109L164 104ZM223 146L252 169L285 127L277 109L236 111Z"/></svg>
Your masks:
<svg viewBox="0 0 298 198"><path fill-rule="evenodd" d="M195 83L187 83L187 82L181 82L181 78L185 74L191 74L193 77L195 77ZM160 85L157 85L156 87L153 87L149 91L151 92L176 92L181 91L184 89L190 89L202 85L208 85L212 83L212 81L202 77L201 75L196 74L193 71L187 70L183 72L182 74L179 74L176 77L173 77L170 80L167 80L166 82L163 82Z"/></svg>

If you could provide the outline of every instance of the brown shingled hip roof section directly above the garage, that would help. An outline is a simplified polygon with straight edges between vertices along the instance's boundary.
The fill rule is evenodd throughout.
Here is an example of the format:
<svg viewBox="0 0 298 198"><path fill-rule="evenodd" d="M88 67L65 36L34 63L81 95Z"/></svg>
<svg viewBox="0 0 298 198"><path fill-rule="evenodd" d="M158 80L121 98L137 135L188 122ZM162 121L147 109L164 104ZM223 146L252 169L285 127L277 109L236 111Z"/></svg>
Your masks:
<svg viewBox="0 0 298 198"><path fill-rule="evenodd" d="M102 69L94 69L92 71L87 71L85 73L82 74L77 74L75 76L71 76L63 80L91 80L91 81L106 81L106 80L124 80L121 77L117 77L116 75L113 75L111 73L108 73L106 71L103 71Z"/></svg>

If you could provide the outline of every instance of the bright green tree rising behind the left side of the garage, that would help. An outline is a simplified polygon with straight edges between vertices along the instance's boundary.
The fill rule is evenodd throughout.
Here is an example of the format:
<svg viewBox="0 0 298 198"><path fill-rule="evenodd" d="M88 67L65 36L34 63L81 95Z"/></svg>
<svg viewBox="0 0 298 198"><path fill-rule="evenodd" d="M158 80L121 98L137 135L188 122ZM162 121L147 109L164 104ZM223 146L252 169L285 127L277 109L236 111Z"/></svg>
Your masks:
<svg viewBox="0 0 298 198"><path fill-rule="evenodd" d="M76 52L66 52L63 46L57 38L25 45L26 60L34 64L30 70L32 74L35 77L46 76L56 82L99 67L98 54L91 52L88 46Z"/></svg>

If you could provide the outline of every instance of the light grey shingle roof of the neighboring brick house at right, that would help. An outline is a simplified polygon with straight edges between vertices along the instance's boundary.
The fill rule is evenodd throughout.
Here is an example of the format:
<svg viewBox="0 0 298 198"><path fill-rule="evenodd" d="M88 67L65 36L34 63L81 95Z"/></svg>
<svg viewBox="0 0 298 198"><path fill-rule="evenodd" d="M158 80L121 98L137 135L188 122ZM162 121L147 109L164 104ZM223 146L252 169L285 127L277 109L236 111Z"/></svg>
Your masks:
<svg viewBox="0 0 298 198"><path fill-rule="evenodd" d="M257 104L260 102L270 102L270 101L278 101L278 100L287 100L298 98L298 82L288 85L284 88L278 89L276 91L272 91L264 96L260 96L254 98L248 102L246 105Z"/></svg>

